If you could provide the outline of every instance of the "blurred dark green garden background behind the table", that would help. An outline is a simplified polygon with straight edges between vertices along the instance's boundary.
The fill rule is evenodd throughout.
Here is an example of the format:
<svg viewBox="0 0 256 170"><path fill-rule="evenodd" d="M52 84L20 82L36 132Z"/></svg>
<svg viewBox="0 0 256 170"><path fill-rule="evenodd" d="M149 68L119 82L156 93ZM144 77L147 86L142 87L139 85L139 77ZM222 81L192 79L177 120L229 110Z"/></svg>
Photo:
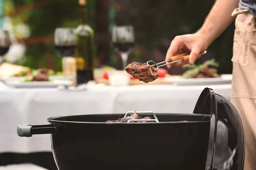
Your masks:
<svg viewBox="0 0 256 170"><path fill-rule="evenodd" d="M61 58L54 49L57 27L78 26L78 0L2 0L3 20L10 20L15 37L26 44L26 52L15 64L30 68L61 71ZM173 38L197 31L215 0L87 0L89 23L95 31L95 67L122 67L121 57L113 52L111 31L115 25L132 25L134 52L129 62L160 62ZM21 27L29 31L22 31ZM16 29L15 29L16 28ZM25 34L26 33L26 34ZM232 73L234 23L198 59L215 58L219 74ZM170 74L182 74L173 67Z"/></svg>

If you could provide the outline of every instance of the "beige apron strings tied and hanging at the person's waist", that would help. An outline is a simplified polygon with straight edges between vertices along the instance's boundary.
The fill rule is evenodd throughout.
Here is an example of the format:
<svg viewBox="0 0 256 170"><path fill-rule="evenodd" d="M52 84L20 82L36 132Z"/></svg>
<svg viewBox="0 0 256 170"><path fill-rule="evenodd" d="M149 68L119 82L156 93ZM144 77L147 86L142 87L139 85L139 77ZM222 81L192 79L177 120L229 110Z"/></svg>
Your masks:
<svg viewBox="0 0 256 170"><path fill-rule="evenodd" d="M244 14L247 12L248 12L247 9L241 10L241 8L236 8L233 11L232 16L235 17L239 14ZM242 29L240 30L239 40L238 40L238 43L236 46L236 50L234 52L233 58L231 59L233 62L237 63L238 59L241 55L242 48L244 46L244 61L243 61L242 67L246 67L249 65L250 40L251 40L251 34L253 32L254 26L255 26L255 18L253 17L253 15L248 15L245 18ZM249 29L247 31L248 27L249 27ZM246 31L247 31L247 36L245 37ZM244 38L245 38L245 40L244 40Z"/></svg>

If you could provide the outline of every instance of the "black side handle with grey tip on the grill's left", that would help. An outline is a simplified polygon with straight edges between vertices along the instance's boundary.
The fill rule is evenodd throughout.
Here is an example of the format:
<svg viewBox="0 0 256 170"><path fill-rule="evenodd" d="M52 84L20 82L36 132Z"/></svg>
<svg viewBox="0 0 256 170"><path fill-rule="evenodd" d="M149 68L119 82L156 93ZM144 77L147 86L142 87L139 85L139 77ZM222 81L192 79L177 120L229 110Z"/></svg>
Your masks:
<svg viewBox="0 0 256 170"><path fill-rule="evenodd" d="M20 137L32 137L37 134L52 134L57 131L57 127L50 125L31 125L30 123L19 124L17 134Z"/></svg>

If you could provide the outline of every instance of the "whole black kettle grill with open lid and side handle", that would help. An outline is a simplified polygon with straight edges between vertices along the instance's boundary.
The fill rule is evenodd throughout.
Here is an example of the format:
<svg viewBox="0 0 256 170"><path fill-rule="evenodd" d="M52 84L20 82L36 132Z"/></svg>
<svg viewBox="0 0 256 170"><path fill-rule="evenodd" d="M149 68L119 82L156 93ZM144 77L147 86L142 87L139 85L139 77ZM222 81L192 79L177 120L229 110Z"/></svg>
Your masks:
<svg viewBox="0 0 256 170"><path fill-rule="evenodd" d="M21 124L19 136L51 134L59 170L243 170L239 113L210 88L193 113L152 113L154 122L106 123L127 114L56 116Z"/></svg>

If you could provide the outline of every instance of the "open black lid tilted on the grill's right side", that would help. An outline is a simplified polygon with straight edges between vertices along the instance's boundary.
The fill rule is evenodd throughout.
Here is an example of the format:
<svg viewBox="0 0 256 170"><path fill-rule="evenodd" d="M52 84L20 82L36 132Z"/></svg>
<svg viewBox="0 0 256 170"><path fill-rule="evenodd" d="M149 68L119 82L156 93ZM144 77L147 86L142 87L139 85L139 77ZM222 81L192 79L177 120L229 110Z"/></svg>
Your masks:
<svg viewBox="0 0 256 170"><path fill-rule="evenodd" d="M205 88L193 113L211 115L206 170L244 169L244 129L236 108Z"/></svg>

